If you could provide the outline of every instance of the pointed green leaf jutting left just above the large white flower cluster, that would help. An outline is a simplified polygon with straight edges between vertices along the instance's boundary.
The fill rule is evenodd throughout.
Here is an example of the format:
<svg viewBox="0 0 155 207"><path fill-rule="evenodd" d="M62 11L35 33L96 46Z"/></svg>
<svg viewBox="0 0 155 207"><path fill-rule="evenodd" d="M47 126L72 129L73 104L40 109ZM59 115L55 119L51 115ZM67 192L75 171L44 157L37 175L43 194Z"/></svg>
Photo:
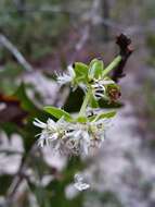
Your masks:
<svg viewBox="0 0 155 207"><path fill-rule="evenodd" d="M63 109L59 109L56 107L44 107L43 110L56 119L61 119L62 117L64 117L66 121L73 121L72 115Z"/></svg>

